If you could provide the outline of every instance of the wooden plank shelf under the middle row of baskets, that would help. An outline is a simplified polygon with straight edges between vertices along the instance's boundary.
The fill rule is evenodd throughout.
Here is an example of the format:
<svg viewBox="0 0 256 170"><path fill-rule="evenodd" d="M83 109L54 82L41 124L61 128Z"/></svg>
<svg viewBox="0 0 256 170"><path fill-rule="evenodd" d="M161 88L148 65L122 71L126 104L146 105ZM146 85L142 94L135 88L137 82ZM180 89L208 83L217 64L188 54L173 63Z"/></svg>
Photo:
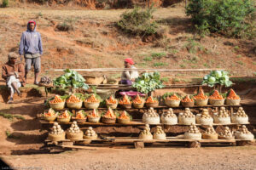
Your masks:
<svg viewBox="0 0 256 170"><path fill-rule="evenodd" d="M54 122L48 122L43 119L39 121L41 124L53 124ZM72 124L72 122L58 122L59 124ZM79 125L88 125L88 126L144 126L145 123L141 119L134 119L131 122L127 124L121 124L121 123L112 123L112 124L107 124L107 123L102 123L102 122L82 122L78 123ZM250 124L246 123L245 125ZM159 124L150 124L152 126L157 126L157 125L166 125L163 123ZM207 125L201 125L201 124L195 124L196 126L207 126ZM243 124L237 124L237 123L229 123L229 124L219 124L219 123L213 123L212 126L235 126L235 125L243 125ZM167 126L189 126L189 125L183 125L183 124L176 124L176 125L167 125Z"/></svg>

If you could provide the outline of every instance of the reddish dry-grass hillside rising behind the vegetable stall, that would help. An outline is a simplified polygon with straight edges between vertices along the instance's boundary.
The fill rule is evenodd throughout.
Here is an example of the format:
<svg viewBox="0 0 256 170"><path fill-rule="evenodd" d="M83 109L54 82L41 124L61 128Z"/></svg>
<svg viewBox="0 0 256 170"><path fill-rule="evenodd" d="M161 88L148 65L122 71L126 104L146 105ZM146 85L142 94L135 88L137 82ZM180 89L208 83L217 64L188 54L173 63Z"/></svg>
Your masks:
<svg viewBox="0 0 256 170"><path fill-rule="evenodd" d="M255 40L253 44L253 40L218 35L195 37L183 4L154 12L154 20L160 24L159 37L135 37L119 31L115 22L125 10L1 8L0 64L10 51L18 50L27 20L36 20L43 37L43 73L53 68L120 68L125 57L132 57L139 68L225 68L233 77L256 74ZM119 73L111 77L119 77Z"/></svg>

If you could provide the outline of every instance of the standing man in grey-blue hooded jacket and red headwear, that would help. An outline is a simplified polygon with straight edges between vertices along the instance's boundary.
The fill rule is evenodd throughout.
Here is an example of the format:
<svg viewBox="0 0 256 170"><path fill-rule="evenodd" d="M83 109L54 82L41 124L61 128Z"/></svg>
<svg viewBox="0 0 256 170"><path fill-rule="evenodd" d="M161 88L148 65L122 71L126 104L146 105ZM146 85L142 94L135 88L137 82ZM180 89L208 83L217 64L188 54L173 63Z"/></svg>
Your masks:
<svg viewBox="0 0 256 170"><path fill-rule="evenodd" d="M24 54L25 58L25 78L28 71L31 70L32 65L35 70L34 84L38 85L38 75L41 69L41 55L43 54L43 46L41 34L36 31L37 24L34 20L30 20L27 23L27 30L22 32L20 38L20 60L21 55Z"/></svg>

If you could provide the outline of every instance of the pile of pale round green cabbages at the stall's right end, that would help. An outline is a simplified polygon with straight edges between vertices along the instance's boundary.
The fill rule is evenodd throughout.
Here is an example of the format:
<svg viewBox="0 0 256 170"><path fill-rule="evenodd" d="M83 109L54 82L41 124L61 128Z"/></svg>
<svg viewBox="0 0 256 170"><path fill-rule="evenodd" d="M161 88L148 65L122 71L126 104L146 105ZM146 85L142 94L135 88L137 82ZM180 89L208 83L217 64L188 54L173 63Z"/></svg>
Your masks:
<svg viewBox="0 0 256 170"><path fill-rule="evenodd" d="M202 84L207 84L209 87L213 87L215 84L230 87L232 82L228 76L228 71L211 71L210 74L203 77Z"/></svg>

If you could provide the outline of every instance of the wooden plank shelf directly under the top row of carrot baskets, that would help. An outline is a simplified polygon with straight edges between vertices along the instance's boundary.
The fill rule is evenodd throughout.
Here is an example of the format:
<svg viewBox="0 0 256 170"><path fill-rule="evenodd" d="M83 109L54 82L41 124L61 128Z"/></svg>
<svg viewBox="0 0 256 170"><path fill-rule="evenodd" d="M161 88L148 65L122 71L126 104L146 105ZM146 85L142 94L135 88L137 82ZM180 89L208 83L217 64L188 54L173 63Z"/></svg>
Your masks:
<svg viewBox="0 0 256 170"><path fill-rule="evenodd" d="M189 108L206 108L206 107L240 107L241 105L204 105L204 106L198 106L198 105L195 105L193 107L189 107ZM159 110L159 109L168 109L168 108L172 108L172 109L184 109L185 107L183 106L178 106L178 107L169 107L167 105L159 105L157 107L154 107L154 110ZM99 107L97 108L97 110L107 110L108 108L107 107ZM131 108L131 109L125 109L125 108L121 108L121 107L118 107L116 110L125 110L125 111L132 111L132 110L148 110L149 108L148 107L143 107L143 108L140 108L140 109L137 109L137 108ZM87 108L80 108L80 109L70 109L70 108L65 108L63 110L60 110L60 111L66 111L66 110L75 110L75 111L78 111L78 110L87 110L87 111L91 111L92 109L87 109ZM44 110L44 111L48 111L48 110Z"/></svg>

